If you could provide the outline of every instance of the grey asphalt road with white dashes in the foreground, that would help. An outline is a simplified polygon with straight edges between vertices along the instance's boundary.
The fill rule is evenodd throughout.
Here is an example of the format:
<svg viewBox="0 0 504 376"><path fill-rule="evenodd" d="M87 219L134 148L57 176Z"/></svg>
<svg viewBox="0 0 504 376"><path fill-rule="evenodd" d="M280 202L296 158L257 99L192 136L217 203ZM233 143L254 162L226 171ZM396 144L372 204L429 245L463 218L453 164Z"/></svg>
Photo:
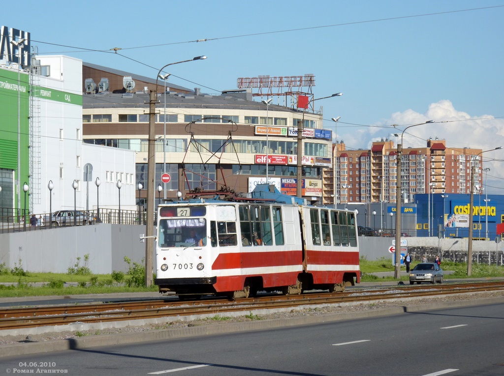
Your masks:
<svg viewBox="0 0 504 376"><path fill-rule="evenodd" d="M504 375L503 324L504 303L413 311L0 358L0 374Z"/></svg>

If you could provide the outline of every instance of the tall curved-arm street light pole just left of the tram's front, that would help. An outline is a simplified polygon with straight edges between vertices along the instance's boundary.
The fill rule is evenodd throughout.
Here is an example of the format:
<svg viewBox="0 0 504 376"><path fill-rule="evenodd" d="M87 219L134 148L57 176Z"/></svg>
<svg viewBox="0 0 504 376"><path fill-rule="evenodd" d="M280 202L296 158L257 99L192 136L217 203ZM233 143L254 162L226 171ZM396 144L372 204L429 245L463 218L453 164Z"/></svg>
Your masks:
<svg viewBox="0 0 504 376"><path fill-rule="evenodd" d="M147 215L145 232L146 236L154 235L154 179L156 177L156 153L154 150L155 143L155 116L156 116L156 101L157 101L157 89L158 89L158 79L161 71L168 66L174 64L180 64L182 62L203 60L207 56L196 56L189 60L182 60L177 62L171 62L166 64L161 68L156 75L156 90L151 90L149 94L149 144L147 151ZM145 242L145 286L150 287L152 285L152 257L154 253L154 243L152 241Z"/></svg>

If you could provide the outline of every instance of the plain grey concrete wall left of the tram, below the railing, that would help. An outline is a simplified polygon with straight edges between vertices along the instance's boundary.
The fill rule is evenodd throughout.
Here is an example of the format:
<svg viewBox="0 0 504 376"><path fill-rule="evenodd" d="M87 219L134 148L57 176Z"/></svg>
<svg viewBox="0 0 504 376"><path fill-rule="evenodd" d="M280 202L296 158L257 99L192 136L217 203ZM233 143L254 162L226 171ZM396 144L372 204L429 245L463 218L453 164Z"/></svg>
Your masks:
<svg viewBox="0 0 504 376"><path fill-rule="evenodd" d="M137 263L145 259L143 233L145 226L101 223L0 234L0 264L9 269L21 266L28 272L67 273L77 258L79 266L85 266L84 257L89 255L86 266L94 274L125 272L124 256Z"/></svg>

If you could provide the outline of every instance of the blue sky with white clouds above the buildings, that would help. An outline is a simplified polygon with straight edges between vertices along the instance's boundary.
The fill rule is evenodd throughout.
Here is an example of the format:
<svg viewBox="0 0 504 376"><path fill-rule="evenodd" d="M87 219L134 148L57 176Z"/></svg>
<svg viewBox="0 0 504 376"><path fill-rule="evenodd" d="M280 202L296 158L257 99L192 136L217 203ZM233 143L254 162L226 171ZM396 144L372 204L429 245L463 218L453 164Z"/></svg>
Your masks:
<svg viewBox="0 0 504 376"><path fill-rule="evenodd" d="M314 74L314 97L343 93L316 108L323 106L328 129L341 116L338 140L349 149L391 137L391 124L431 119L449 122L407 131L404 147L425 146L429 137L456 148L504 146L502 0L91 0L49 2L36 14L18 8L3 5L2 24L29 31L40 54L149 77L169 62L206 55L168 72L169 82L208 93L236 88L238 77ZM122 49L114 54L114 47ZM504 160L504 151L485 156ZM502 177L499 161L488 166L489 180Z"/></svg>

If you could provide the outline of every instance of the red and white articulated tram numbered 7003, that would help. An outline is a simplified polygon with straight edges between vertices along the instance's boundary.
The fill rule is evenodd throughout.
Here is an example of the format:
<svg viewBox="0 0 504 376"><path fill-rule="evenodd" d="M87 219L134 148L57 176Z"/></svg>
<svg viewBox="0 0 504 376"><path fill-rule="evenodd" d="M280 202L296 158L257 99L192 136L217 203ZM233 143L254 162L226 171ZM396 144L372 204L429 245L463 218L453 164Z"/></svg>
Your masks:
<svg viewBox="0 0 504 376"><path fill-rule="evenodd" d="M360 282L353 211L276 199L190 199L158 207L159 292L232 298L343 291Z"/></svg>

